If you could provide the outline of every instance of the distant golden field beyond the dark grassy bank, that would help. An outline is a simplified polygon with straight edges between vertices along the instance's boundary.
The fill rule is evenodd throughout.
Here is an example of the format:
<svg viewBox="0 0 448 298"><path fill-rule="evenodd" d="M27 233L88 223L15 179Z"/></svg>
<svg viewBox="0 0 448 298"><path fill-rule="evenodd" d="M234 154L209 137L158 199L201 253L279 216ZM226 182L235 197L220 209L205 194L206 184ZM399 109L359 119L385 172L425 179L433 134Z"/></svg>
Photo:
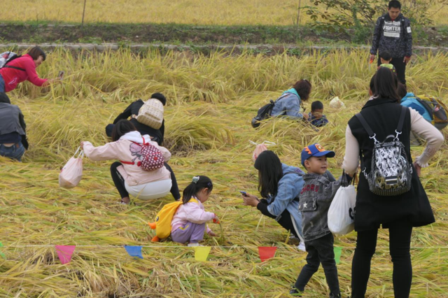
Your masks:
<svg viewBox="0 0 448 298"><path fill-rule="evenodd" d="M383 1L384 10L387 2ZM3 3L2 20L80 22L84 1L15 0ZM160 1L91 1L85 7L85 22L151 22L177 24L269 24L290 25L297 18L299 4L312 6L311 1L290 0L160 0ZM410 3L412 6L412 3ZM321 7L324 10L324 7ZM448 24L448 9L440 5L430 8L436 25ZM302 24L310 17L302 11Z"/></svg>

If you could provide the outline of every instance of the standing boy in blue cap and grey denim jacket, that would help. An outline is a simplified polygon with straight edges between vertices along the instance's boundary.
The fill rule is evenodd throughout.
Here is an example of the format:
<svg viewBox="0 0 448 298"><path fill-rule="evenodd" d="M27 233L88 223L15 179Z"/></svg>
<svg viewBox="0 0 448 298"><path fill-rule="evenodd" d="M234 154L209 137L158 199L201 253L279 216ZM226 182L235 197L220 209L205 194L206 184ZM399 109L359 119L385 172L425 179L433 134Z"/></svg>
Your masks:
<svg viewBox="0 0 448 298"><path fill-rule="evenodd" d="M300 192L299 210L302 212L303 238L308 255L307 264L290 290L290 294L297 297L302 296L305 285L321 263L330 288L330 298L341 297L333 248L334 238L327 225L328 208L341 185L341 179L329 180L325 176L328 168L327 157L335 157L335 152L325 150L317 143L302 150L302 166L308 173L303 176L305 183Z"/></svg>

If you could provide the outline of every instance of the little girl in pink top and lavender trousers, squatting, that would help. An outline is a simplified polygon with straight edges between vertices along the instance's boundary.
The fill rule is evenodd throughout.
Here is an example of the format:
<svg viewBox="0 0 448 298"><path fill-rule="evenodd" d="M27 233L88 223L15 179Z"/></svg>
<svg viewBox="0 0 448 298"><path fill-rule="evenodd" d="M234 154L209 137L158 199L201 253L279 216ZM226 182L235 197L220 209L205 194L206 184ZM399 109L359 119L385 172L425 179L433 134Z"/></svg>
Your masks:
<svg viewBox="0 0 448 298"><path fill-rule="evenodd" d="M207 176L195 176L192 183L183 190L182 203L174 213L171 222L171 238L174 242L187 243L188 246L200 246L204 232L216 236L206 225L210 220L218 220L215 213L204 210L204 201L209 199L213 184ZM190 201L190 199L196 201Z"/></svg>

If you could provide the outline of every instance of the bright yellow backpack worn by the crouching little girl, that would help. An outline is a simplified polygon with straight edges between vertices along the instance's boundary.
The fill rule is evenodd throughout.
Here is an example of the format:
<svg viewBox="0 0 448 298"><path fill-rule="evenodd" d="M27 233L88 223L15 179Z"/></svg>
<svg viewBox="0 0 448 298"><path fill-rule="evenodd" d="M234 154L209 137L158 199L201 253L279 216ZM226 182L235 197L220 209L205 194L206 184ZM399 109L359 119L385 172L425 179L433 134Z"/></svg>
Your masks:
<svg viewBox="0 0 448 298"><path fill-rule="evenodd" d="M193 198L188 201L188 203L190 202L199 204L197 199ZM176 214L177 208L182 204L182 201L174 201L173 203L166 204L159 213L157 213L155 222L148 222L151 229L155 229L155 236L151 241L158 242L160 239L169 237L171 234L171 222L173 221L173 216Z"/></svg>

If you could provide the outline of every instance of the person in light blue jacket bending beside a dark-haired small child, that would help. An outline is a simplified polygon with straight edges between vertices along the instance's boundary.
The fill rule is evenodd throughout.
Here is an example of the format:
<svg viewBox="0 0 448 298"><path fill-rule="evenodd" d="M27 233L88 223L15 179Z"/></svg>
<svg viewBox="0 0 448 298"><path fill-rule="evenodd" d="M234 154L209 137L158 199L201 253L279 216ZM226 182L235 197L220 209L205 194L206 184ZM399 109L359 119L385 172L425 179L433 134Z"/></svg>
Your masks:
<svg viewBox="0 0 448 298"><path fill-rule="evenodd" d="M310 93L311 83L309 80L298 80L290 90L283 92L281 97L275 101L271 116L308 120L308 114L300 113L300 107L303 108L302 101L307 101Z"/></svg>

